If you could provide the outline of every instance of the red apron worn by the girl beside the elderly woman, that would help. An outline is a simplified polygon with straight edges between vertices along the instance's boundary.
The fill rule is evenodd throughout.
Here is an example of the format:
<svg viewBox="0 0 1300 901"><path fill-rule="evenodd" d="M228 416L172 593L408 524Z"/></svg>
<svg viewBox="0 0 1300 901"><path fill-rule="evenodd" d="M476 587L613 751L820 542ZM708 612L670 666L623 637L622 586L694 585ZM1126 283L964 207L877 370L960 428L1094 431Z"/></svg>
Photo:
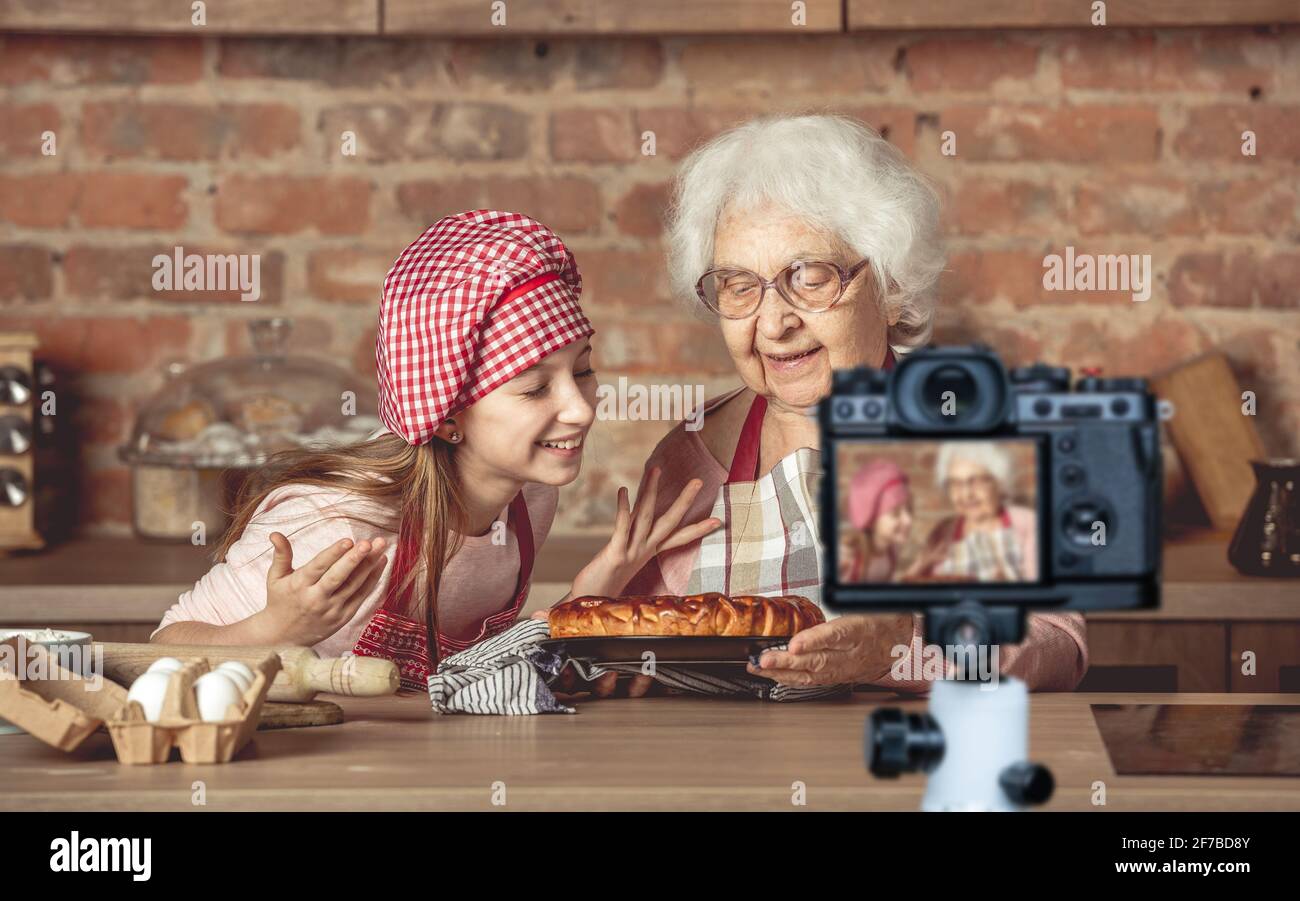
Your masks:
<svg viewBox="0 0 1300 901"><path fill-rule="evenodd" d="M510 519L515 525L515 541L519 542L519 580L515 584L515 598L504 608L485 619L478 634L468 641L439 632L439 660L508 629L524 601L528 599L528 580L533 575L533 524L528 519L528 504L524 503L523 491L510 502ZM384 607L367 623L352 653L359 657L393 660L402 673L402 690L426 692L430 666L429 627L390 608L389 603L385 601Z"/></svg>

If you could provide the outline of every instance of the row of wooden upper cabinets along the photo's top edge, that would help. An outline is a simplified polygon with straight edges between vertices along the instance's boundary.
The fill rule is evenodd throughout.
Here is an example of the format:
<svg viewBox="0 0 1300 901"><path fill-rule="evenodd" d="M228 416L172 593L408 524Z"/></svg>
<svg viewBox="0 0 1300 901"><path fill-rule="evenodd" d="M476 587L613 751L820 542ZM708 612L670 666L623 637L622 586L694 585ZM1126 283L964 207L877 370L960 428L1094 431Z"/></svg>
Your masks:
<svg viewBox="0 0 1300 901"><path fill-rule="evenodd" d="M502 22L497 13L507 12ZM681 35L800 34L881 29L1043 29L1092 26L1083 0L221 0L205 31L221 35ZM0 29L192 34L191 4L177 0L0 3ZM1112 26L1279 25L1300 21L1295 0L1131 0L1112 4Z"/></svg>

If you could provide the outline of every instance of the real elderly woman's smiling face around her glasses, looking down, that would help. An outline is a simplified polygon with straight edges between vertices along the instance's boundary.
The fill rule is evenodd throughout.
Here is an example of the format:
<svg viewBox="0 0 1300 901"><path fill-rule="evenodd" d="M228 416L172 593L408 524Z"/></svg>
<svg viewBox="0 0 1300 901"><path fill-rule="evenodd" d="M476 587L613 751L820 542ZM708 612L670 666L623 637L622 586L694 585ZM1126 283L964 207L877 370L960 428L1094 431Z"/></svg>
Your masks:
<svg viewBox="0 0 1300 901"><path fill-rule="evenodd" d="M715 268L749 269L763 278L775 278L796 260L849 269L858 263L852 255L842 242L771 203L745 213L725 209L714 233ZM771 289L746 319L722 319L723 341L745 384L789 407L811 407L831 393L832 371L880 365L888 324L871 285L870 267L863 267L824 312L805 312Z"/></svg>

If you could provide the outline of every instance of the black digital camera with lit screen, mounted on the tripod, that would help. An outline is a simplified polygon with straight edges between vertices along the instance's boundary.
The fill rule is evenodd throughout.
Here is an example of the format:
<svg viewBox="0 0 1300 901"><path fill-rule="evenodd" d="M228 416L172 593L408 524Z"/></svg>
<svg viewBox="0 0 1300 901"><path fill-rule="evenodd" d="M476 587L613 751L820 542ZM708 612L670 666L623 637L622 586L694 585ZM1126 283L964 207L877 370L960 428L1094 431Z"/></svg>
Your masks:
<svg viewBox="0 0 1300 901"><path fill-rule="evenodd" d="M1089 374L1071 389L1066 368L1008 374L988 347L928 347L893 369L836 371L818 420L833 610L930 620L975 603L1018 641L1028 608L1158 606L1160 429L1145 380Z"/></svg>

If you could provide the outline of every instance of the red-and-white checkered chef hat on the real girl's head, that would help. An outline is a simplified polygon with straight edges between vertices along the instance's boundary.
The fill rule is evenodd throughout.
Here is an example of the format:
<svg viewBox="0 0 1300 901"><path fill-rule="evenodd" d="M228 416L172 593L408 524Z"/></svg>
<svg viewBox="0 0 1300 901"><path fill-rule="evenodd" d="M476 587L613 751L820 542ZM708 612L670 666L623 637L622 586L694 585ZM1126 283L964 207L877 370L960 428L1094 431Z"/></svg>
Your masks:
<svg viewBox="0 0 1300 901"><path fill-rule="evenodd" d="M595 332L582 277L554 231L520 213L439 218L384 280L380 419L424 445L448 417Z"/></svg>

